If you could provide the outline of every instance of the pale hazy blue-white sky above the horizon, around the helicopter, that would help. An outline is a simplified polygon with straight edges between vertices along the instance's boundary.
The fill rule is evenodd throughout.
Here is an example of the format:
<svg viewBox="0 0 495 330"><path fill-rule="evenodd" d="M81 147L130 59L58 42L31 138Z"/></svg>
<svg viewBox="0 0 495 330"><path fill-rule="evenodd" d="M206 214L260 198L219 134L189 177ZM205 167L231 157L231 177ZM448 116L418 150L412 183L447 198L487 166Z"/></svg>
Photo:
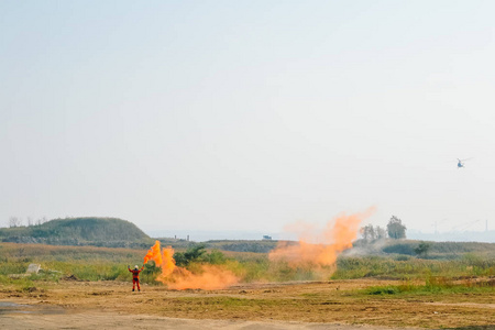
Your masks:
<svg viewBox="0 0 495 330"><path fill-rule="evenodd" d="M495 228L494 1L0 0L0 227ZM458 158L469 158L458 168Z"/></svg>

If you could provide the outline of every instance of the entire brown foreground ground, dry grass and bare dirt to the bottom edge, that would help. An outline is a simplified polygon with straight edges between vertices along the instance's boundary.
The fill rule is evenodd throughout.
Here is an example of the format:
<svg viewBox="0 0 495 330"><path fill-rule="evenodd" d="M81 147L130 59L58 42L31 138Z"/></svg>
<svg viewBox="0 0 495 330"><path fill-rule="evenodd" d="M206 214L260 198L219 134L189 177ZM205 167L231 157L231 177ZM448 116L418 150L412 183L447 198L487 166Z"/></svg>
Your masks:
<svg viewBox="0 0 495 330"><path fill-rule="evenodd" d="M2 329L495 329L494 294L370 296L359 279L168 290L130 283L61 280L0 288ZM476 328L479 327L479 328Z"/></svg>

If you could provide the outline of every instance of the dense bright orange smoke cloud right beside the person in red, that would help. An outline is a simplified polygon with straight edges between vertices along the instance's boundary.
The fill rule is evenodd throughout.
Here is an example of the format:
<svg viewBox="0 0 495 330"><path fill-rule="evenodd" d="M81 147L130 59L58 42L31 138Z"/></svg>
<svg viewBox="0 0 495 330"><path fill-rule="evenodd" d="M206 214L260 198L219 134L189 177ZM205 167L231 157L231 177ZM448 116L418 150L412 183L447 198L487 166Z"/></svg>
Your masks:
<svg viewBox="0 0 495 330"><path fill-rule="evenodd" d="M239 282L232 272L216 265L200 265L197 274L178 267L174 260L174 249L167 246L161 251L160 241L156 241L144 256L144 263L148 261L154 261L155 265L162 268L156 279L170 289L221 289Z"/></svg>

